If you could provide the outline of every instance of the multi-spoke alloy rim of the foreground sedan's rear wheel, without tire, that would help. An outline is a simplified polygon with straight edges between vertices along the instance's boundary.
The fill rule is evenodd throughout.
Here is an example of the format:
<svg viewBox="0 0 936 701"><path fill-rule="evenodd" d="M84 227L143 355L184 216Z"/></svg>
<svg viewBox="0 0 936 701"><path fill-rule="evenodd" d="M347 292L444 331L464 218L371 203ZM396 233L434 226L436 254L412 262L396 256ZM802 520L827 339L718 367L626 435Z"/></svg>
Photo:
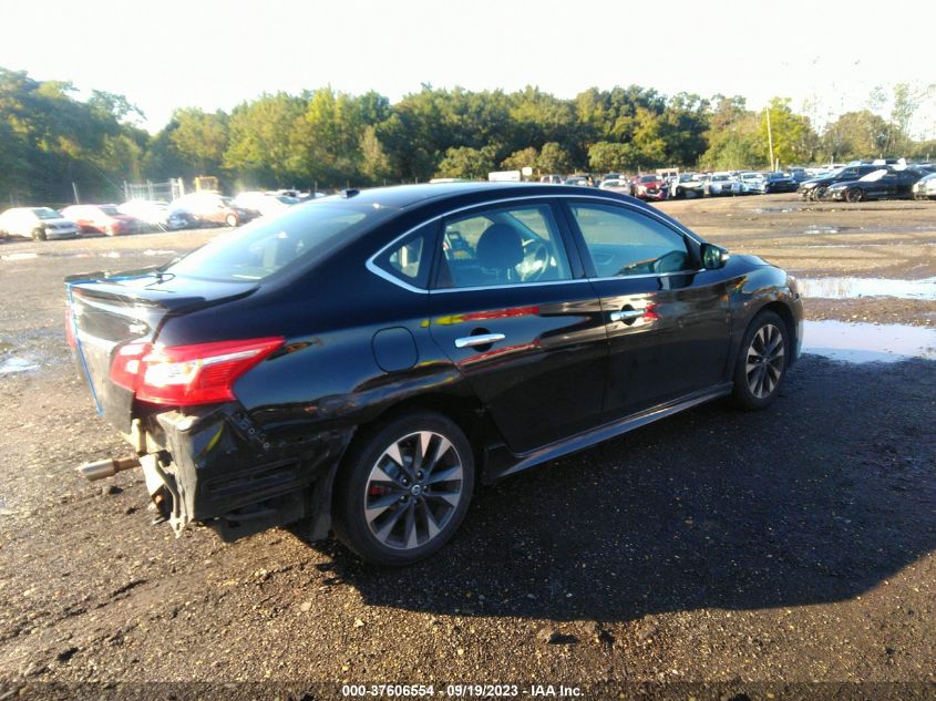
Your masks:
<svg viewBox="0 0 936 701"><path fill-rule="evenodd" d="M394 549L422 547L445 529L462 502L462 458L441 433L411 433L383 451L364 489L371 534Z"/></svg>

